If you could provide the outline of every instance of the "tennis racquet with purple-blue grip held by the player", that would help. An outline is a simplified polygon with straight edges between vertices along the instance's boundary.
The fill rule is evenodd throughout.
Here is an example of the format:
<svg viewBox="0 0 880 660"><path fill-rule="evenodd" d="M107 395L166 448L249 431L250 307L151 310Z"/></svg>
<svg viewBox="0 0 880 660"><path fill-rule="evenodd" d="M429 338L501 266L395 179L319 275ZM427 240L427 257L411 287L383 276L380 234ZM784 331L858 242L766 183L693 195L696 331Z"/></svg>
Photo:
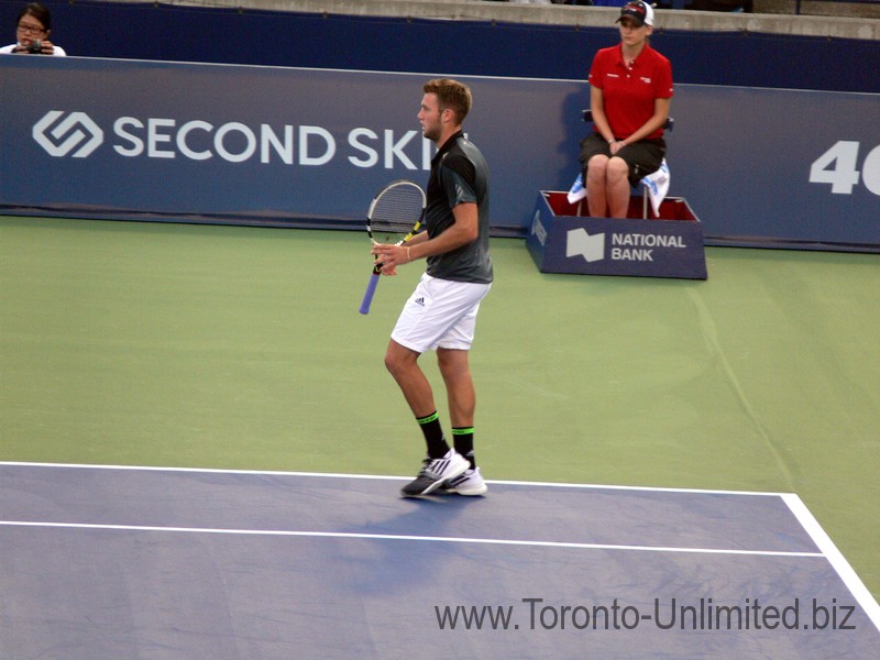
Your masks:
<svg viewBox="0 0 880 660"><path fill-rule="evenodd" d="M373 245L394 243L403 245L421 229L427 199L418 184L399 179L387 184L376 193L366 213L366 233ZM373 266L370 284L366 285L361 314L370 314L370 305L376 293L382 274L382 264Z"/></svg>

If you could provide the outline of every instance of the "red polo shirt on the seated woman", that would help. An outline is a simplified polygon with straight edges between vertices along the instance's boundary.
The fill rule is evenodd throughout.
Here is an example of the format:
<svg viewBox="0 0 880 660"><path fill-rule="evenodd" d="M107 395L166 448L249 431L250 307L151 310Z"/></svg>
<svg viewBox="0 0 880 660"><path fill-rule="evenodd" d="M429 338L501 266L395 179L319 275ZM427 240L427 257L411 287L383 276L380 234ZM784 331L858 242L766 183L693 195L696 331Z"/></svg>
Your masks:
<svg viewBox="0 0 880 660"><path fill-rule="evenodd" d="M672 98L672 65L646 44L627 68L623 46L617 44L596 53L590 85L602 90L605 117L614 136L626 140L653 114L654 99ZM648 138L662 135L659 129Z"/></svg>

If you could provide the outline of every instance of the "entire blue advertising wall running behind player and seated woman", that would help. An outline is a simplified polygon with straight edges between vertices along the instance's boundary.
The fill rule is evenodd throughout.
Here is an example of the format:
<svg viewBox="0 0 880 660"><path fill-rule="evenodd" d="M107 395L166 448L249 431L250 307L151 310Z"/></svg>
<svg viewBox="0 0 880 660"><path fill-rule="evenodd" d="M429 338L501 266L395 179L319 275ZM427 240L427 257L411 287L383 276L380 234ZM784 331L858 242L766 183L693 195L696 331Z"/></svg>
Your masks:
<svg viewBox="0 0 880 660"><path fill-rule="evenodd" d="M0 57L0 212L360 227L425 183L427 74ZM575 178L585 81L465 77L496 235ZM880 95L681 85L670 195L707 244L880 252Z"/></svg>

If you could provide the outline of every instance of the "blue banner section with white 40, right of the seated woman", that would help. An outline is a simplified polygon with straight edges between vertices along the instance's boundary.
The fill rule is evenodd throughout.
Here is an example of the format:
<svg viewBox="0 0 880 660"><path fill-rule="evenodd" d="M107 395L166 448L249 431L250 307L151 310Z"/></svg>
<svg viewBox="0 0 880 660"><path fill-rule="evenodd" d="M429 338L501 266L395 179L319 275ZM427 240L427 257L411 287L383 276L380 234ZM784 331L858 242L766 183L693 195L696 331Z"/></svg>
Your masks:
<svg viewBox="0 0 880 660"><path fill-rule="evenodd" d="M672 114L707 243L880 252L880 95L682 85Z"/></svg>

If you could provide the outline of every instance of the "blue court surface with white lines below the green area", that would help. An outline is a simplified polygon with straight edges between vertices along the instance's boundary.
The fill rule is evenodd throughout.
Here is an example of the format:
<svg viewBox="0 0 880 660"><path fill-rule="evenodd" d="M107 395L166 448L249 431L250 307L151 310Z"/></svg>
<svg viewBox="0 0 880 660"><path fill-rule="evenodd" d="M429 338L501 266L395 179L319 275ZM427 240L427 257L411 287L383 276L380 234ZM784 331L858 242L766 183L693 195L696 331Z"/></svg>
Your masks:
<svg viewBox="0 0 880 660"><path fill-rule="evenodd" d="M3 658L873 658L796 495L0 464Z"/></svg>

